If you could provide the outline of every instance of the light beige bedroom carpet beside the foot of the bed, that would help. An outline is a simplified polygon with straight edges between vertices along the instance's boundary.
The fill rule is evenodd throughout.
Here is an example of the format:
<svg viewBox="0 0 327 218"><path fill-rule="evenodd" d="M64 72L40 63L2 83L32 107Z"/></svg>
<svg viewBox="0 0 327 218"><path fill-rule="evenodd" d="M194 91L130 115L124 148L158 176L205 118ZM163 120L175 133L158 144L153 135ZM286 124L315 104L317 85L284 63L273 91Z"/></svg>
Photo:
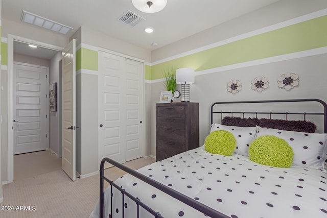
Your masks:
<svg viewBox="0 0 327 218"><path fill-rule="evenodd" d="M137 169L154 161L139 158L126 165ZM105 170L111 180L124 174L116 167ZM0 210L0 217L88 217L99 198L99 175L73 182L60 170L14 181L4 185L3 190L0 209L13 210ZM23 210L21 206L25 206Z"/></svg>

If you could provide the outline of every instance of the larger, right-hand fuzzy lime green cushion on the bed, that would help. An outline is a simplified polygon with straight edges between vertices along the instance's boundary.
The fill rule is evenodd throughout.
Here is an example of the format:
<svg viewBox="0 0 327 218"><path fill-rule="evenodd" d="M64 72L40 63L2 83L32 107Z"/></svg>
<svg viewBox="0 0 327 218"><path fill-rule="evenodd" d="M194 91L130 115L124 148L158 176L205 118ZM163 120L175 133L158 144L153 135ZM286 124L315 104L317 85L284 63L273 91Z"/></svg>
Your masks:
<svg viewBox="0 0 327 218"><path fill-rule="evenodd" d="M282 138L265 135L252 141L249 147L249 158L253 162L275 167L290 167L294 152Z"/></svg>

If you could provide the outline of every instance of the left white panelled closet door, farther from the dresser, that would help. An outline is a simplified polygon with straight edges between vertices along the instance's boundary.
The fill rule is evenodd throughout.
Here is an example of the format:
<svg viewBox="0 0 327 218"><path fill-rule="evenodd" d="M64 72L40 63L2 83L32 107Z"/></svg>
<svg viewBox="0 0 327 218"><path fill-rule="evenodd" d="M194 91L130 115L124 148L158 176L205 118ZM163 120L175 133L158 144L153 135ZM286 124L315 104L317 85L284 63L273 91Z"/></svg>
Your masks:
<svg viewBox="0 0 327 218"><path fill-rule="evenodd" d="M125 58L99 51L99 159L125 162Z"/></svg>

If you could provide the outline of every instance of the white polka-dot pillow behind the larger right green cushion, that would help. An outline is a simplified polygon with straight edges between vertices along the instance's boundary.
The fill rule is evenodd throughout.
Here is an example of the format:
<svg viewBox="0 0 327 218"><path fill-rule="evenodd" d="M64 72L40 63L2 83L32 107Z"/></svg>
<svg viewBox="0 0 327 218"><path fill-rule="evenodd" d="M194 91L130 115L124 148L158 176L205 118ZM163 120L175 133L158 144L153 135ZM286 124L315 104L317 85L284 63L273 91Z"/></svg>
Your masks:
<svg viewBox="0 0 327 218"><path fill-rule="evenodd" d="M293 132L268 129L257 126L255 138L274 135L289 143L294 152L293 165L324 169L323 151L326 147L327 134Z"/></svg>

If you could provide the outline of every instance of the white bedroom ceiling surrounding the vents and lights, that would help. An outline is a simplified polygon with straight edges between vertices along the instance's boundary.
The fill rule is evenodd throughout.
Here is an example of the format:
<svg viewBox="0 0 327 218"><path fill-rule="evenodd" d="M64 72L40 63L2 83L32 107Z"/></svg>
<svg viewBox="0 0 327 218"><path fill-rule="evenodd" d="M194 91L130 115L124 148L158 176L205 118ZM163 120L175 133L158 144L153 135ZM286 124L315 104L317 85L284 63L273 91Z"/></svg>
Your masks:
<svg viewBox="0 0 327 218"><path fill-rule="evenodd" d="M278 1L168 0L165 9L148 14L134 8L131 0L3 0L2 17L21 22L22 10L26 10L74 28L68 33L68 37L84 26L155 50ZM135 27L118 21L127 10L146 20ZM153 33L144 32L144 28L148 26L154 28ZM153 42L158 45L151 46Z"/></svg>

